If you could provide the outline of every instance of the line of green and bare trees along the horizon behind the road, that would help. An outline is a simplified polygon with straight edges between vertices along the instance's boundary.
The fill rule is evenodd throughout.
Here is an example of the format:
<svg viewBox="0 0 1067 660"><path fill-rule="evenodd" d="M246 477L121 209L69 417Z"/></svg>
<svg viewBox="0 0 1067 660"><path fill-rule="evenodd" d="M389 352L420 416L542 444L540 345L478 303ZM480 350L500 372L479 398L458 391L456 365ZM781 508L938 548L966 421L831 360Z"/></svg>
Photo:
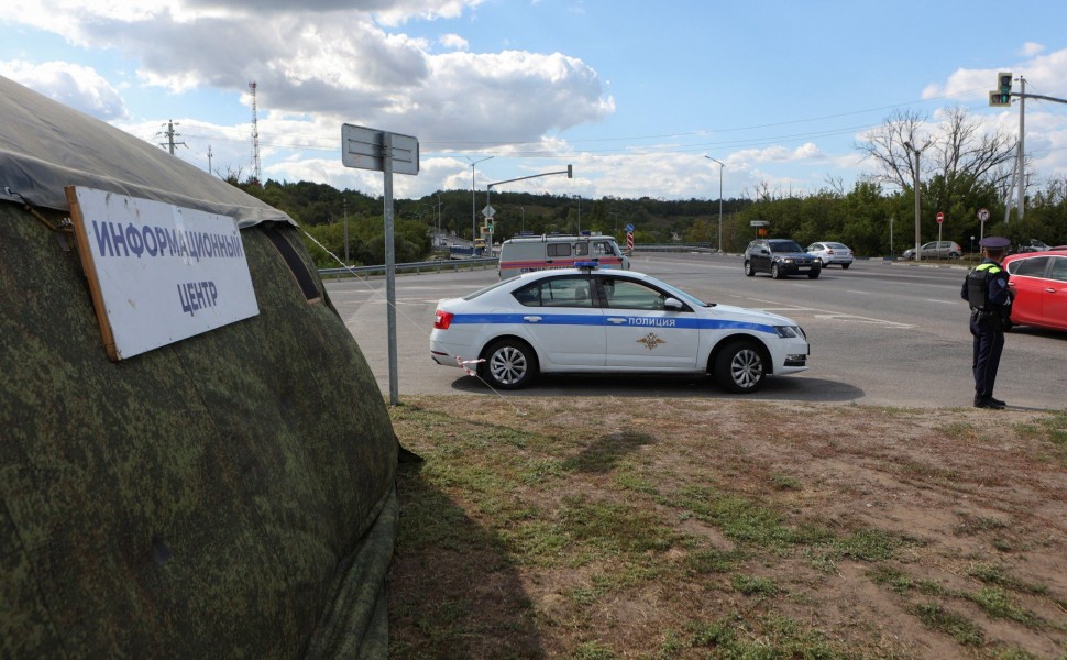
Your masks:
<svg viewBox="0 0 1067 660"><path fill-rule="evenodd" d="M943 212L942 238L965 249L977 245L980 235L994 234L1013 243L1036 238L1067 244L1067 179L1052 179L1036 189L1032 186L1024 218L1020 220L1014 210L1005 216L1014 180L1014 138L985 132L963 109L948 110L934 125L917 113L894 113L856 148L873 165L873 172L851 189L831 176L815 193L778 195L763 184L750 197L724 200L723 250L744 250L755 238L751 221L765 220L770 222L771 235L790 237L802 245L832 240L848 244L861 256L900 254L915 242L916 178L923 242L938 238L936 215ZM916 152L922 154L917 177ZM1030 163L1024 169L1027 180L1036 180ZM348 226L350 264L384 262L382 198L307 182L268 180L261 187L239 184L235 176L230 180L289 213L342 258ZM622 243L627 224L635 226L637 243L686 241L717 246L719 240L718 200L494 193L493 207L497 241L520 231L590 230L613 234ZM991 215L985 228L978 220L979 209ZM471 238L471 191L441 190L420 199L395 200L394 217L397 261L419 261L432 252L432 233ZM476 222L481 224L481 216ZM307 242L320 266L337 265L326 251Z"/></svg>

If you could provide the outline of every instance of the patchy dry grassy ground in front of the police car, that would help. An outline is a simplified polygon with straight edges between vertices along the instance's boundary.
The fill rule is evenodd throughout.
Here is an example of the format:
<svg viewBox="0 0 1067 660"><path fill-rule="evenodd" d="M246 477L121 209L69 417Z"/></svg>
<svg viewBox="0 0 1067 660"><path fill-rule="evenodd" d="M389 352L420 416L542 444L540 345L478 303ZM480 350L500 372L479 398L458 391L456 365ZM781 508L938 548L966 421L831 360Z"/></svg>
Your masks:
<svg viewBox="0 0 1067 660"><path fill-rule="evenodd" d="M407 397L394 658L1067 658L1067 414Z"/></svg>

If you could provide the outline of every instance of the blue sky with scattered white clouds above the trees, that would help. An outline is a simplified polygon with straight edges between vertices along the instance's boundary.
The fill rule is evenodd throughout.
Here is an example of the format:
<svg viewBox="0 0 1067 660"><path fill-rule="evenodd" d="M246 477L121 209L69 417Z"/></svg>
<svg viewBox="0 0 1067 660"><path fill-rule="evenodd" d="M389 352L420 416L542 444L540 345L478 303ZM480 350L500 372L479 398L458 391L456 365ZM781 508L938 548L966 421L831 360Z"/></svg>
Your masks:
<svg viewBox="0 0 1067 660"><path fill-rule="evenodd" d="M11 7L9 7L11 6ZM292 6L292 7L290 7ZM298 6L298 7L297 7ZM503 189L717 199L850 188L898 111L988 107L999 70L1067 98L1067 2L982 0L9 0L0 75L220 175L382 193L342 123L418 138L397 197ZM1018 90L1018 85L1016 85ZM1027 101L1032 187L1067 178L1067 105Z"/></svg>

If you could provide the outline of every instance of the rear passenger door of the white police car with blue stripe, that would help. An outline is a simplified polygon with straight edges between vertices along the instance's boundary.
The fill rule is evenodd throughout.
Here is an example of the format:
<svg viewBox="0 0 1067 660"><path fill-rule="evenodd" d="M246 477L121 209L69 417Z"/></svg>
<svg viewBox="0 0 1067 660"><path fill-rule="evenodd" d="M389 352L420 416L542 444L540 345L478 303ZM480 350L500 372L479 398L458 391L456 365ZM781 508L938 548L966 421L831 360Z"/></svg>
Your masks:
<svg viewBox="0 0 1067 660"><path fill-rule="evenodd" d="M541 356L541 371L604 366L604 319L590 276L546 277L515 292L521 331Z"/></svg>

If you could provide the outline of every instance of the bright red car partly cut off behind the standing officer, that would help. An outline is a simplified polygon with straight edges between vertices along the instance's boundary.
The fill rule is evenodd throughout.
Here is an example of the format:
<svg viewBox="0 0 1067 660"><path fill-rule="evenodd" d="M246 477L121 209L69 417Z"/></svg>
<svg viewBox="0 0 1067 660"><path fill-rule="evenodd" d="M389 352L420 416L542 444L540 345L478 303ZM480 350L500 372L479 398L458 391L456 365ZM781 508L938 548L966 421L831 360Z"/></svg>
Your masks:
<svg viewBox="0 0 1067 660"><path fill-rule="evenodd" d="M1067 245L1004 257L1013 326L1067 330Z"/></svg>

